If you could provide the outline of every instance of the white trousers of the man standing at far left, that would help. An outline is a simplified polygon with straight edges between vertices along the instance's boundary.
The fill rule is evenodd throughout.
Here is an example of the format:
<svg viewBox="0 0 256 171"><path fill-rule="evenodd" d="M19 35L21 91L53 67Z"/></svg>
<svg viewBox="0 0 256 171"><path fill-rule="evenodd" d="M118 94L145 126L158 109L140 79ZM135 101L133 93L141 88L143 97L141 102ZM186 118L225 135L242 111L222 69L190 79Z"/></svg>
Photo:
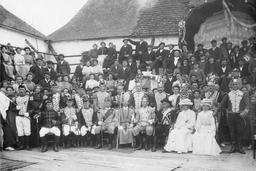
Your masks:
<svg viewBox="0 0 256 171"><path fill-rule="evenodd" d="M22 116L16 117L16 127L18 136L30 136L31 134L31 125L30 119Z"/></svg>

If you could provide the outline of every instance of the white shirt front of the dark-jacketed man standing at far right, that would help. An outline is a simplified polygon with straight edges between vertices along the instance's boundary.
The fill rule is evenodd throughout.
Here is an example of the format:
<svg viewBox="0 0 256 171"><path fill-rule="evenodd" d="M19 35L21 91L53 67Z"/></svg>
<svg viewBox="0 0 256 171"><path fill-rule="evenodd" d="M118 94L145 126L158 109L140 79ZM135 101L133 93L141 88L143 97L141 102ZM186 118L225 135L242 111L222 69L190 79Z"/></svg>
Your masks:
<svg viewBox="0 0 256 171"><path fill-rule="evenodd" d="M229 100L232 105L232 112L239 112L239 105L243 98L244 93L240 90L232 90L228 93Z"/></svg>

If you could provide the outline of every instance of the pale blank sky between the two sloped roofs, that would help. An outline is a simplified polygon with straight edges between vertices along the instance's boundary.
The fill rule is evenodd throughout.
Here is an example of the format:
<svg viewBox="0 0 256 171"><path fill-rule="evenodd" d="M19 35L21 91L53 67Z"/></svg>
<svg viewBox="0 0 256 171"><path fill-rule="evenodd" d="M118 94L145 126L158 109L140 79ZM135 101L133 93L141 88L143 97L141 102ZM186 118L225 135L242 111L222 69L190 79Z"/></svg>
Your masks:
<svg viewBox="0 0 256 171"><path fill-rule="evenodd" d="M87 0L0 0L8 11L49 35L66 24Z"/></svg>

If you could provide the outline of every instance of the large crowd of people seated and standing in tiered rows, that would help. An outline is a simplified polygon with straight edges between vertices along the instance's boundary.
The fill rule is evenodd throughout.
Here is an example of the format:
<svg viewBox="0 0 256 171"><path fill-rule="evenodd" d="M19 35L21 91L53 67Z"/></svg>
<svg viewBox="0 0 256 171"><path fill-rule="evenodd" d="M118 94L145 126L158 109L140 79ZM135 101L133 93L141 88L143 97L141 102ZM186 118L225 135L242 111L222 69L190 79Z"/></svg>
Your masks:
<svg viewBox="0 0 256 171"><path fill-rule="evenodd" d="M1 46L1 92L11 100L1 115L3 148L40 144L46 152L51 140L56 152L59 144L107 143L218 155L227 144L231 153L251 147L255 37L241 45L223 37L219 46L212 40L210 49L198 44L195 51L143 38L123 43L119 52L113 43L93 45L72 74L63 54L54 63L29 47Z"/></svg>

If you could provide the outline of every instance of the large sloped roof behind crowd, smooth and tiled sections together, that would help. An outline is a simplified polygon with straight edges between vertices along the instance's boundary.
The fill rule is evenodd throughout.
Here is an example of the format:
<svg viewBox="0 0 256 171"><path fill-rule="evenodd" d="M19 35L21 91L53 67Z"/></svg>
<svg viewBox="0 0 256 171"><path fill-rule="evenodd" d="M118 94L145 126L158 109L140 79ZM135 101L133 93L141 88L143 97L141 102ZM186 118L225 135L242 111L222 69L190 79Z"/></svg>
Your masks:
<svg viewBox="0 0 256 171"><path fill-rule="evenodd" d="M177 35L178 22L188 13L189 0L89 0L52 41L126 36Z"/></svg>

